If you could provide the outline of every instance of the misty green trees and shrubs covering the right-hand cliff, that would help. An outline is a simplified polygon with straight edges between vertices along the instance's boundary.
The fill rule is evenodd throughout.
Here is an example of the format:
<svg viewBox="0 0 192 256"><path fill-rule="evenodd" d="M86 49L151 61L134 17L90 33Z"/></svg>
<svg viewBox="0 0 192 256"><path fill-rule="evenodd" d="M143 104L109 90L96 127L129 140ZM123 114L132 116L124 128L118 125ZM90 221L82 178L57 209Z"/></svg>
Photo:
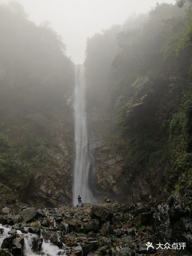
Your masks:
<svg viewBox="0 0 192 256"><path fill-rule="evenodd" d="M138 27L122 27L116 35L119 49L108 83L100 84L109 97L107 106L99 106L110 120L108 141L124 156L124 169L131 167L135 176L138 170L143 172L149 186L155 169L161 171L155 187L167 183L168 190L175 178L190 170L192 156L192 9L183 4L183 8L181 3L179 7L157 4ZM86 65L91 65L90 56ZM124 148L122 138L128 145Z"/></svg>

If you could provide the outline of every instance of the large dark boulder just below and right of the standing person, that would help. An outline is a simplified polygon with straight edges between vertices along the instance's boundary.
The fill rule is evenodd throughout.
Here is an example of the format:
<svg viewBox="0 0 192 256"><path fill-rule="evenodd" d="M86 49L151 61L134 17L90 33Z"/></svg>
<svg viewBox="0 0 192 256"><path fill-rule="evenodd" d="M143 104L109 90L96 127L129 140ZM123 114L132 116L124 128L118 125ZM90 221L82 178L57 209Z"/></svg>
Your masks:
<svg viewBox="0 0 192 256"><path fill-rule="evenodd" d="M98 219L101 222L110 221L113 218L113 214L105 207L93 206L90 211L92 219Z"/></svg>

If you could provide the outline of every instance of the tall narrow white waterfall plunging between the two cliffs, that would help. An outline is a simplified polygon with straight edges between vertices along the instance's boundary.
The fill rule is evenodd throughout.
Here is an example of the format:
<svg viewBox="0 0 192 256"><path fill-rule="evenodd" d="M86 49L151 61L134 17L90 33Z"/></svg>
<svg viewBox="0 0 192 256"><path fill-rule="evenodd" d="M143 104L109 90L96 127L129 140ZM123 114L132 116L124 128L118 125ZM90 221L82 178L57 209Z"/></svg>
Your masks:
<svg viewBox="0 0 192 256"><path fill-rule="evenodd" d="M76 65L75 69L75 166L73 183L73 204L78 203L78 195L83 203L93 202L93 195L89 189L90 153L89 138L86 121L86 81L85 68Z"/></svg>

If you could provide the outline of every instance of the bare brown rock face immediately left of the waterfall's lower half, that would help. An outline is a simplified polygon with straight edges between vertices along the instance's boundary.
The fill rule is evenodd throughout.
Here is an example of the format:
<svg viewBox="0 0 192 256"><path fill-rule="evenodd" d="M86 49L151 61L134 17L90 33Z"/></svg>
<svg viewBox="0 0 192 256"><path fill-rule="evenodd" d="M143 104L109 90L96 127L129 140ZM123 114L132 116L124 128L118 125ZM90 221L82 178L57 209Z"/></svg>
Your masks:
<svg viewBox="0 0 192 256"><path fill-rule="evenodd" d="M70 110L71 111L71 110ZM72 111L71 111L72 113ZM51 163L38 170L25 188L26 203L35 207L70 204L74 161L74 124L62 117L54 122L47 147Z"/></svg>

